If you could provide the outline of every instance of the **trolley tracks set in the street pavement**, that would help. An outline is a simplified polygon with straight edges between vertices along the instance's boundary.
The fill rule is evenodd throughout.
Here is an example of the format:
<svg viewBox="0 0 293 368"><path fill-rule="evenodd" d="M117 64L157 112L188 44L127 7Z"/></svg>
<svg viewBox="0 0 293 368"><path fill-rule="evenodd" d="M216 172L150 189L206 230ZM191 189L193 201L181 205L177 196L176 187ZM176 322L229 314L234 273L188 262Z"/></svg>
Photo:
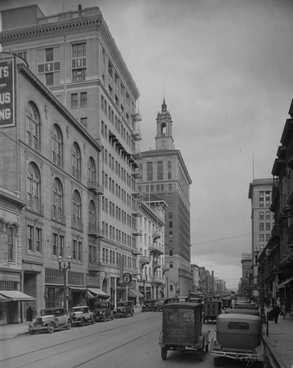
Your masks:
<svg viewBox="0 0 293 368"><path fill-rule="evenodd" d="M147 321L147 320L149 320L149 319L153 320L153 319L154 319L154 317L153 317L153 316L151 316L150 318L146 318L146 319L144 319L143 321ZM102 330L102 331L97 331L97 332L91 333L91 334L86 335L86 336L76 337L76 338L71 339L71 340L67 340L67 341L64 341L64 342L58 342L58 343L56 343L56 344L51 344L51 345L46 346L46 347L43 347L43 348L38 348L38 349L31 350L31 351L28 351L28 352L25 352L25 353L22 353L22 354L14 355L14 356L11 356L11 357L9 357L9 358L0 359L0 363L5 362L5 361L12 361L12 360L14 360L14 359L21 358L21 357L25 357L26 355L31 355L31 354L33 354L33 353L39 353L40 351L46 351L46 350L49 350L50 348L60 347L60 346L62 346L62 345L63 345L63 346L65 346L65 344L72 344L73 342L77 342L78 340L80 341L80 340L82 340L82 339L89 339L90 337L94 338L94 337L95 337L95 336L97 336L97 335L102 335L102 336L100 336L98 339L94 339L94 340L92 340L92 341L90 341L90 342L89 342L89 341L87 341L86 343L81 344L79 347L82 347L82 346L89 346L89 344L97 343L97 341L99 341L100 339L103 339L103 334L105 334L105 333L108 333L108 332L111 332L111 331L113 331L112 335L117 335L118 333L125 333L125 331L121 331L121 332L114 332L114 330L123 329L126 325L128 326L128 330L135 329L135 328L136 328L136 325L137 325L138 323L142 323L142 320L139 320L139 321L133 321L133 322L131 322L131 323L127 323L127 324L124 324L124 325L121 325L121 326L115 326L115 327L112 327L112 328L108 328L108 329L106 329L106 330ZM131 325L132 325L132 327L130 327ZM146 335L148 335L149 333L152 333L152 332L154 332L154 331L156 331L156 330L159 330L159 329L161 329L161 327L160 327L160 328L158 328L158 329L154 329L153 331L150 331L150 332L145 333L145 334L143 334L143 335L137 336L135 339L129 340L129 342L125 342L125 343L121 344L120 346L112 347L109 351L112 351L112 350L118 349L119 347L122 347L122 346L124 346L124 345L126 345L126 344L128 344L128 343L130 343L130 342L133 342L133 341L134 341L134 340L136 340L136 339L142 338L143 336L146 336ZM112 335L110 335L110 336L112 336ZM68 349L62 350L62 351L60 351L60 352L58 352L58 353L55 353L55 354L53 354L53 355L52 355L52 354L50 354L48 357L43 357L43 358L41 358L41 359L33 360L33 361L29 362L29 363L22 364L22 365L20 365L19 367L25 367L25 366L31 365L31 364L33 364L33 363L35 363L35 362L38 362L38 361L45 361L45 360L46 360L47 358L49 358L49 357L50 357L50 358L52 358L53 356L57 356L57 355L64 354L64 353L68 353L68 352L70 352L70 351L72 351L72 350L74 350L74 349L76 349L76 347L71 347L71 348L68 348ZM106 352L104 352L104 353L101 353L99 356L104 355L104 354L107 354L107 353L109 353L109 351L106 351ZM97 357L99 357L99 356L97 356ZM96 359L97 357L94 357L93 359ZM85 363L83 362L83 363L81 363L81 364L79 364L79 365L82 365L82 364L85 364ZM76 365L76 367L79 367L79 365Z"/></svg>

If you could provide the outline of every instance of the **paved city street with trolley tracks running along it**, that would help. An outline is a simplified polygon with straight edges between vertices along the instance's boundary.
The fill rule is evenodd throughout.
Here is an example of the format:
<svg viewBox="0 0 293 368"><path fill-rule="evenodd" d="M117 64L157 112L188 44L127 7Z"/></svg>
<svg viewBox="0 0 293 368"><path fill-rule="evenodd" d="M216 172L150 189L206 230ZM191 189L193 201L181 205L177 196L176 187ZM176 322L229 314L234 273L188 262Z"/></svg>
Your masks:
<svg viewBox="0 0 293 368"><path fill-rule="evenodd" d="M213 367L210 352L203 362L194 351L181 354L168 351L161 359L158 338L161 331L161 312L137 313L133 317L98 322L95 325L73 327L53 334L37 333L4 340L0 346L0 367ZM215 336L215 321L203 325ZM244 362L227 360L227 368L245 367ZM267 367L267 366L265 366Z"/></svg>

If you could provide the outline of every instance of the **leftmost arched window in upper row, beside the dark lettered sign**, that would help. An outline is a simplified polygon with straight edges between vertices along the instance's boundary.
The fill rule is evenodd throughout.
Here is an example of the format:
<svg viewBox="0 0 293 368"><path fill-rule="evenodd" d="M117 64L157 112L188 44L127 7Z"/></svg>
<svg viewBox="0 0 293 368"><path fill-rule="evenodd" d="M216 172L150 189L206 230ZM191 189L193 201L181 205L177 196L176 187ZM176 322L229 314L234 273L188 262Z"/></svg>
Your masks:
<svg viewBox="0 0 293 368"><path fill-rule="evenodd" d="M40 119L36 105L29 102L26 106L26 142L39 151Z"/></svg>

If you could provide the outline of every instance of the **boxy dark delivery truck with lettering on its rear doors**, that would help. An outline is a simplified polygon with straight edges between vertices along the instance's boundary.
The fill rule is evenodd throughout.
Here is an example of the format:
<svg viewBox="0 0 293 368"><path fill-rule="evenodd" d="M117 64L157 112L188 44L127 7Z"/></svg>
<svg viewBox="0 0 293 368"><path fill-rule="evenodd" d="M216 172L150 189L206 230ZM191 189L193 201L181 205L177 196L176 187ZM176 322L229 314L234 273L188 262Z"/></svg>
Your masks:
<svg viewBox="0 0 293 368"><path fill-rule="evenodd" d="M168 350L196 351L199 360L203 352L208 351L209 330L201 330L202 304L178 302L164 304L163 324L159 337L161 357L167 358Z"/></svg>

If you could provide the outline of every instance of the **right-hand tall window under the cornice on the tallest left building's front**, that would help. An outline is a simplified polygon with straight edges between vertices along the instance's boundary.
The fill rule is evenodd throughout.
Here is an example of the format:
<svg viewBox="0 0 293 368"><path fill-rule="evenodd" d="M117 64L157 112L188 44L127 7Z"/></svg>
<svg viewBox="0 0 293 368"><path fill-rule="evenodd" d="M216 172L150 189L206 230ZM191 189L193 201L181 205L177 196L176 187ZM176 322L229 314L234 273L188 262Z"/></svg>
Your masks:
<svg viewBox="0 0 293 368"><path fill-rule="evenodd" d="M86 79L86 43L72 45L72 81L80 82Z"/></svg>

